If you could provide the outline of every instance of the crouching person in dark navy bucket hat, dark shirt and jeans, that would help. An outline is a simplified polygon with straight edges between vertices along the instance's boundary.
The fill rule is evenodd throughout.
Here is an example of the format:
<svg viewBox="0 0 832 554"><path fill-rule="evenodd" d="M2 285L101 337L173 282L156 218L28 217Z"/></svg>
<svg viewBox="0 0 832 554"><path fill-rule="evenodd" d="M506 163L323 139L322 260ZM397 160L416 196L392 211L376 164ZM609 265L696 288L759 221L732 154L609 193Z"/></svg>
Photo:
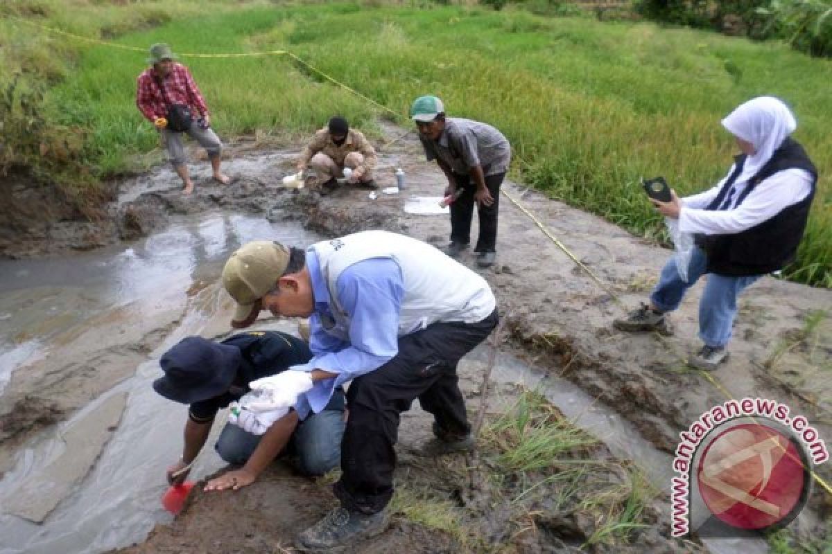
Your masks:
<svg viewBox="0 0 832 554"><path fill-rule="evenodd" d="M159 360L165 375L153 381L153 389L168 400L189 404L182 457L167 468L168 482L186 479L206 444L216 414L249 392L250 382L277 375L311 357L305 341L277 331L250 331L221 342L188 336L166 351ZM211 479L206 490L238 489L254 483L281 453L290 455L301 474L328 472L341 456L344 404L344 391L338 390L318 414L300 421L291 410L263 434L225 424L215 449L225 462L242 467Z"/></svg>

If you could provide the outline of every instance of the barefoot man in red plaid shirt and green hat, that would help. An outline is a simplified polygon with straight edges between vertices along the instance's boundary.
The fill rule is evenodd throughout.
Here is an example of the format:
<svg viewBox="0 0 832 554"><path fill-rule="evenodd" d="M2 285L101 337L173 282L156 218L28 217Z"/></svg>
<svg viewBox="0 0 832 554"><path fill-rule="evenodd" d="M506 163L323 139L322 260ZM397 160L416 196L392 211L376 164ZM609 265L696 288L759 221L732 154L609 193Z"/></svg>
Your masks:
<svg viewBox="0 0 832 554"><path fill-rule="evenodd" d="M154 44L151 47L151 56L147 58L151 67L143 71L137 80L136 105L146 119L156 125L156 130L159 131L162 143L166 147L168 159L185 185L185 189L182 190L184 194L194 191L194 183L188 173L182 132L191 135L192 139L206 149L211 169L214 170L214 179L221 184L228 184L228 177L220 171L222 143L210 128L206 101L202 98L191 71L174 60L176 54L166 44ZM192 120L188 130L177 132L168 128L166 115L168 106L173 104L182 104L190 108Z"/></svg>

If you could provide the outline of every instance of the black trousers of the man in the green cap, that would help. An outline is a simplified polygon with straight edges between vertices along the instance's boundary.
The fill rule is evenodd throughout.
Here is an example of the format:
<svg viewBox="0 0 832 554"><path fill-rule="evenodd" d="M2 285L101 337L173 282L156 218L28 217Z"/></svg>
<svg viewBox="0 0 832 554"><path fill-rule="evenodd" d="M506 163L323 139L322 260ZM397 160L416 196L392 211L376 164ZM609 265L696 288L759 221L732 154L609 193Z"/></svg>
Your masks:
<svg viewBox="0 0 832 554"><path fill-rule="evenodd" d="M505 176L505 173L485 176L485 186L494 202L490 206L477 206L479 238L474 252L497 252L497 213L500 208L500 185ZM473 183L471 175L454 173L453 179L457 188L463 189L463 194L451 204L451 240L468 244L471 242L471 218L476 203L473 194L477 192L477 184Z"/></svg>

